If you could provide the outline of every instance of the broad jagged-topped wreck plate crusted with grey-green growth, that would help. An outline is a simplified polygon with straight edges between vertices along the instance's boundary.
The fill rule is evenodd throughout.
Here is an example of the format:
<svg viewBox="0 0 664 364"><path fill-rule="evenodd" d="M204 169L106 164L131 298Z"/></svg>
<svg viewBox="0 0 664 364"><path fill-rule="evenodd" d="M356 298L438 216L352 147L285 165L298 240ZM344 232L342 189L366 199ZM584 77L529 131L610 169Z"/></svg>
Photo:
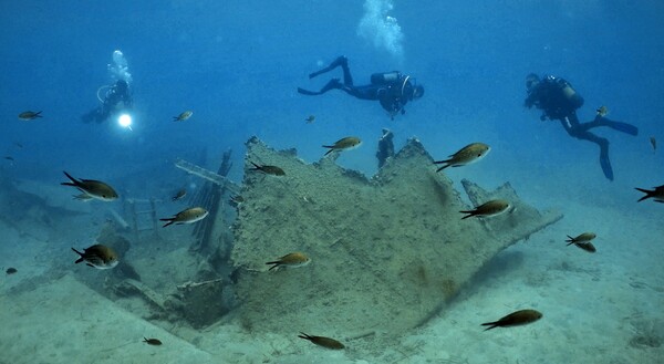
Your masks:
<svg viewBox="0 0 664 364"><path fill-rule="evenodd" d="M461 221L467 206L416 139L371 178L334 157L305 164L258 138L247 149L246 168L258 160L286 171L245 174L231 259L240 320L251 330L400 334L444 310L499 251L561 218L539 214L509 185L487 193L465 181L473 201L501 197L516 209ZM311 263L267 272L266 259L291 251Z"/></svg>

